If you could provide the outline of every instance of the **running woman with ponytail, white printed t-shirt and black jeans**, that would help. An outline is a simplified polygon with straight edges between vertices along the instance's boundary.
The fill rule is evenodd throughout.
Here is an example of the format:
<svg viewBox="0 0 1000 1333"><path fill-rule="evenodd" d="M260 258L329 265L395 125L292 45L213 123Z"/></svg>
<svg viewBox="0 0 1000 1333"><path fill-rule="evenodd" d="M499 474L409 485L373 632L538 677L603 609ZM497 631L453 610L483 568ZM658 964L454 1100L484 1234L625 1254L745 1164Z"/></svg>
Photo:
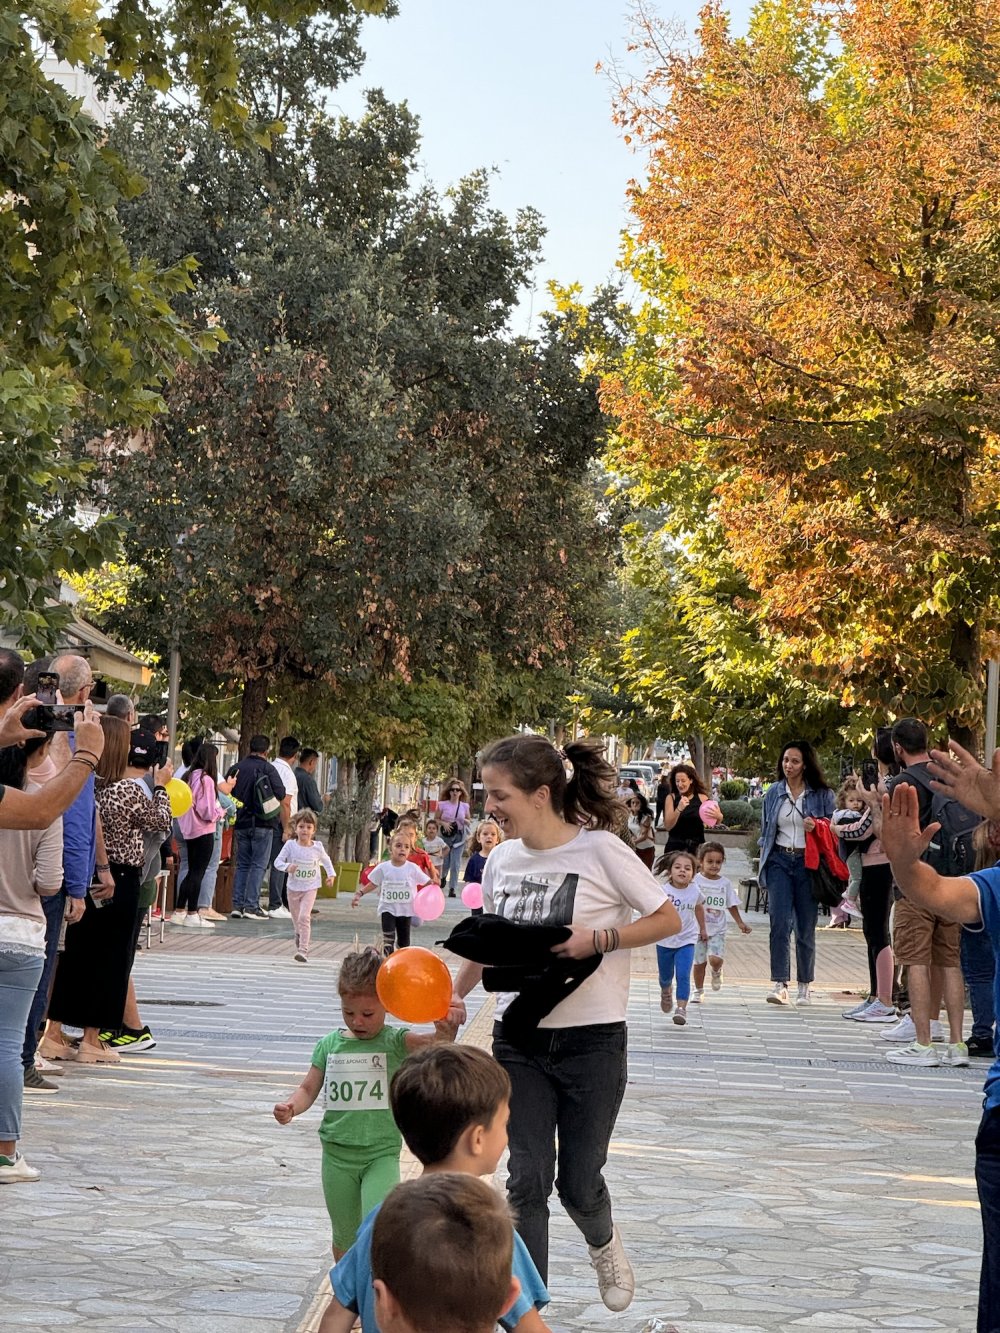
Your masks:
<svg viewBox="0 0 1000 1333"><path fill-rule="evenodd" d="M604 1304L624 1310L635 1276L603 1169L625 1092L628 950L673 934L680 918L635 852L609 832L624 812L599 741L576 741L561 752L541 736L511 736L489 745L480 766L485 809L507 838L483 873L487 910L523 925L571 926L553 950L564 957L603 954L597 970L541 1018L523 1046L505 1040L499 1022L493 1029L493 1054L513 1088L507 1189L517 1230L544 1281L548 1198L557 1180ZM456 996L467 996L481 976L479 964L463 964ZM511 1000L499 996L497 1017Z"/></svg>

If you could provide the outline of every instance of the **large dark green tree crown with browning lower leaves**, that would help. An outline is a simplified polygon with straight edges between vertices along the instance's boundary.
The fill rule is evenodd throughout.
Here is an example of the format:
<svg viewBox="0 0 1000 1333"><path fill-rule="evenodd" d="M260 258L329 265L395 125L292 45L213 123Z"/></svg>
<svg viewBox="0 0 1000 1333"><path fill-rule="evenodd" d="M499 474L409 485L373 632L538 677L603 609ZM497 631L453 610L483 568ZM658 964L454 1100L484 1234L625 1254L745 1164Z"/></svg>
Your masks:
<svg viewBox="0 0 1000 1333"><path fill-rule="evenodd" d="M431 677L479 697L565 670L608 543L587 475L604 417L559 316L505 335L539 219L491 209L483 175L413 191L405 109L372 95L333 120L315 29L255 37L245 100L295 95L267 151L236 161L209 117L149 96L112 127L151 181L129 241L197 256L185 311L228 343L107 449L137 571L111 623L160 652L175 631L196 688L239 682L244 736L289 688L369 717L365 692L404 708Z"/></svg>

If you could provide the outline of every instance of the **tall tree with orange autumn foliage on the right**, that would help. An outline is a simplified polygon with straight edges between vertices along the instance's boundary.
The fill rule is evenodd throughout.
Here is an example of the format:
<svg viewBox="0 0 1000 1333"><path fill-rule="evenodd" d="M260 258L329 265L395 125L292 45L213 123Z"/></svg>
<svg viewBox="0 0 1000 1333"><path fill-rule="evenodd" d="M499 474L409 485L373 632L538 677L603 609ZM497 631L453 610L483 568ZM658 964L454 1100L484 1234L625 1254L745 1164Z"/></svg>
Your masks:
<svg viewBox="0 0 1000 1333"><path fill-rule="evenodd" d="M803 678L969 740L997 620L1000 0L639 32L628 261L661 335L605 381L613 461L661 491L711 468Z"/></svg>

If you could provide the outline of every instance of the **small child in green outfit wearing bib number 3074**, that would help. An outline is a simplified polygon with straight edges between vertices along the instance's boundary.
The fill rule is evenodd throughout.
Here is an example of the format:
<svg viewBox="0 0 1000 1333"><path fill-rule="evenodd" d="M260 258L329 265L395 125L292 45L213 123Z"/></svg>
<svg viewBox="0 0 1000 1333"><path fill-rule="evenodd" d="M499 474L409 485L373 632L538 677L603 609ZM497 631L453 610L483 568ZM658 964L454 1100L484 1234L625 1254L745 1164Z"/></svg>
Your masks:
<svg viewBox="0 0 1000 1333"><path fill-rule="evenodd" d="M353 1245L361 1218L399 1184L403 1140L389 1109L392 1076L411 1052L455 1041L457 1032L448 1020L435 1024L433 1036L387 1028L375 989L381 961L375 949L344 958L337 990L347 1030L331 1032L317 1044L301 1084L275 1106L275 1120L287 1125L324 1093L323 1193L335 1258Z"/></svg>

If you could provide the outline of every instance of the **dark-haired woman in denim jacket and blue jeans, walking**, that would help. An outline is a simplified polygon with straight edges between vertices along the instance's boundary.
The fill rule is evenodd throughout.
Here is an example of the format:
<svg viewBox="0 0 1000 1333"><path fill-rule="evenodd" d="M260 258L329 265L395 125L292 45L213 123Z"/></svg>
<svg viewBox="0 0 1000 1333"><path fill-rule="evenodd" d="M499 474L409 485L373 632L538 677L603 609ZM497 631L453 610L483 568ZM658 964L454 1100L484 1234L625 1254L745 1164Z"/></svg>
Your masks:
<svg viewBox="0 0 1000 1333"><path fill-rule="evenodd" d="M815 821L833 813L816 750L808 741L789 741L777 761L777 781L764 793L757 877L768 890L771 916L771 981L768 1004L788 1004L789 936L795 926L795 970L799 1004L809 1004L816 972L817 904L805 869L805 834Z"/></svg>

